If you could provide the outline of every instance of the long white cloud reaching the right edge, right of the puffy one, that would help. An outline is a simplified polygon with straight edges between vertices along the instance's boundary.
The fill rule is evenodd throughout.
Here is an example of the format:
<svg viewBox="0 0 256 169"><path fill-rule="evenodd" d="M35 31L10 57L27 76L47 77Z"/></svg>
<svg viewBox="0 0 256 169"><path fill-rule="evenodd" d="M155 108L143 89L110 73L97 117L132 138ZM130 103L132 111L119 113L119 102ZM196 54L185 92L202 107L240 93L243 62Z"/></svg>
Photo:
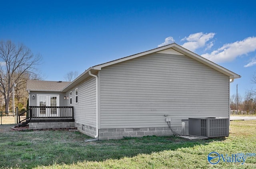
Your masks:
<svg viewBox="0 0 256 169"><path fill-rule="evenodd" d="M209 59L213 62L226 62L236 59L241 55L246 55L249 52L256 50L256 37L247 37L242 41L236 41L234 43L228 43L223 45L217 50L211 53L205 53L202 57Z"/></svg>

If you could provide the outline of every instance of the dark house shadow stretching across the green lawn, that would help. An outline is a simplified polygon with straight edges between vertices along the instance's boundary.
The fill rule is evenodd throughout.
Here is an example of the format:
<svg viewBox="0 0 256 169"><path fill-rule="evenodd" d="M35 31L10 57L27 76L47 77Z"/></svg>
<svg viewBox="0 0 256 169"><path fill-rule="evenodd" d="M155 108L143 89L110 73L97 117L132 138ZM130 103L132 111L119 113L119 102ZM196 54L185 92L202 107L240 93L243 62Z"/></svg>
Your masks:
<svg viewBox="0 0 256 169"><path fill-rule="evenodd" d="M33 168L54 163L72 164L104 161L151 154L182 147L207 145L209 140L186 140L176 136L126 137L122 140L85 142L89 137L80 132L37 131L2 133L0 137L0 167ZM1 148L3 147L3 148Z"/></svg>

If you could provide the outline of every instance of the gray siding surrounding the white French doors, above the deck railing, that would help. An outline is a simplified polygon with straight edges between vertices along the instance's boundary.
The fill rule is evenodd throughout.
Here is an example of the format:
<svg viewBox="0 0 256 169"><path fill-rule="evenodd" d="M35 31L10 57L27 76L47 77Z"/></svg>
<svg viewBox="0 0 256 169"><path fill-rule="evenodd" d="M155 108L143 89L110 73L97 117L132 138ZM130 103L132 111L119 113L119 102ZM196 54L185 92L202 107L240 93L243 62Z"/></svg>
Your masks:
<svg viewBox="0 0 256 169"><path fill-rule="evenodd" d="M64 96L65 93L62 92L35 92L35 91L30 91L30 106L37 106L37 94L58 94L60 95L60 106L65 106L65 100ZM35 95L35 99L32 99L32 95Z"/></svg>

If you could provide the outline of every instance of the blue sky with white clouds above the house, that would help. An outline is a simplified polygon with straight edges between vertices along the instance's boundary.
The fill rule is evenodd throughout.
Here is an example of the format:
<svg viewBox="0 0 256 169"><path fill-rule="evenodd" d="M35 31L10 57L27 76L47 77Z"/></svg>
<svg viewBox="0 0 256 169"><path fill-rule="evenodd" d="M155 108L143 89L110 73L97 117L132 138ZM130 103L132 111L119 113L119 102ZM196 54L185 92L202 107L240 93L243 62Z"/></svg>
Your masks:
<svg viewBox="0 0 256 169"><path fill-rule="evenodd" d="M1 0L2 1L2 0ZM256 2L2 1L0 40L42 55L44 80L175 42L242 76L230 94L256 88Z"/></svg>

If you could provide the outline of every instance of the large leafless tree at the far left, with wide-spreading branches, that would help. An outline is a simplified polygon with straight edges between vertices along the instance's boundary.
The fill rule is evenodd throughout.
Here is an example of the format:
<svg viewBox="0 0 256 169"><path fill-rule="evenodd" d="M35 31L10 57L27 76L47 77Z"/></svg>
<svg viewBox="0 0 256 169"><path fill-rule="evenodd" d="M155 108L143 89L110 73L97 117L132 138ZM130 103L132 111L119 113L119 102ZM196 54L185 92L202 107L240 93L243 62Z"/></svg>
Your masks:
<svg viewBox="0 0 256 169"><path fill-rule="evenodd" d="M5 111L9 111L12 86L24 86L28 75L34 76L35 65L41 61L40 55L34 56L23 44L0 41L0 92L4 97Z"/></svg>

